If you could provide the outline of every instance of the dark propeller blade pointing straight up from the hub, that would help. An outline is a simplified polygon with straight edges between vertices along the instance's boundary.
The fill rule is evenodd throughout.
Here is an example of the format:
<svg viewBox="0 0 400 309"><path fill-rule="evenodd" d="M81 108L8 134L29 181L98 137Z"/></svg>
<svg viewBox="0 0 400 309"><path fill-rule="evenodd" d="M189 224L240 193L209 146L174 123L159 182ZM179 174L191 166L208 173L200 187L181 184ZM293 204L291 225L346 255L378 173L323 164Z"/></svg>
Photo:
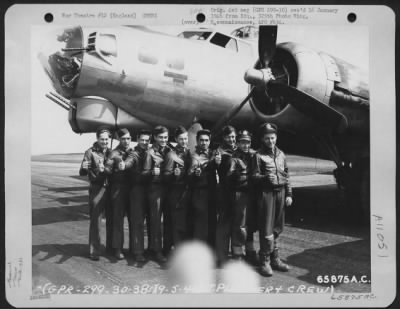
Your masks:
<svg viewBox="0 0 400 309"><path fill-rule="evenodd" d="M258 33L258 58L263 68L267 68L275 54L278 26L260 26Z"/></svg>

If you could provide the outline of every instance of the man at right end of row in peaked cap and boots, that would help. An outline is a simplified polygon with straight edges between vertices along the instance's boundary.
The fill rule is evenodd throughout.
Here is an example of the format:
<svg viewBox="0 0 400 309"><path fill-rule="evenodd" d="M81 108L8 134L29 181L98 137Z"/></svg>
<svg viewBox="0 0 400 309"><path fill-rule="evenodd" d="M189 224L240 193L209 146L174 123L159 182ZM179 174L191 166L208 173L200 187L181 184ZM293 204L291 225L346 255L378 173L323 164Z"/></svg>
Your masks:
<svg viewBox="0 0 400 309"><path fill-rule="evenodd" d="M272 123L260 127L261 148L252 162L252 178L262 189L258 201L258 214L260 274L263 276L271 276L272 269L289 270L288 265L278 256L277 238L284 226L284 206L292 204L292 189L286 157L276 147L277 132L277 126Z"/></svg>

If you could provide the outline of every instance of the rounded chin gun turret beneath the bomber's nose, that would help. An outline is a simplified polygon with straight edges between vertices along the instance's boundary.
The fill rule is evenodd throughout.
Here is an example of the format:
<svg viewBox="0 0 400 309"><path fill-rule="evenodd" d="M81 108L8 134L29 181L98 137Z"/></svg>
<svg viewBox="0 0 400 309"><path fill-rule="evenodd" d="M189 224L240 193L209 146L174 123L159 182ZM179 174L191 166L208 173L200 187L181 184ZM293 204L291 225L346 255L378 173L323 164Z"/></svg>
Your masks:
<svg viewBox="0 0 400 309"><path fill-rule="evenodd" d="M72 99L71 103L76 109L70 109L68 121L75 133L96 132L100 126L107 126L114 130L151 128L148 123L133 117L103 98L82 97Z"/></svg>

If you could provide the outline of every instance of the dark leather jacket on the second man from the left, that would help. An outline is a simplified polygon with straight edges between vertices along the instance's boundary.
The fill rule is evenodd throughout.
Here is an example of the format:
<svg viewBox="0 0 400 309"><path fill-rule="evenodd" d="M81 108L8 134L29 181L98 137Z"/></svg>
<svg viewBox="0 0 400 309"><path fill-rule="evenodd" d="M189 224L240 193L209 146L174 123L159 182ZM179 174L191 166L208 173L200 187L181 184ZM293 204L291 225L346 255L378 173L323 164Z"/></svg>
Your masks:
<svg viewBox="0 0 400 309"><path fill-rule="evenodd" d="M110 175L112 184L129 184L129 168L133 149L123 149L121 145L115 148L105 164L105 171ZM119 170L118 165L121 161L125 162L125 169Z"/></svg>

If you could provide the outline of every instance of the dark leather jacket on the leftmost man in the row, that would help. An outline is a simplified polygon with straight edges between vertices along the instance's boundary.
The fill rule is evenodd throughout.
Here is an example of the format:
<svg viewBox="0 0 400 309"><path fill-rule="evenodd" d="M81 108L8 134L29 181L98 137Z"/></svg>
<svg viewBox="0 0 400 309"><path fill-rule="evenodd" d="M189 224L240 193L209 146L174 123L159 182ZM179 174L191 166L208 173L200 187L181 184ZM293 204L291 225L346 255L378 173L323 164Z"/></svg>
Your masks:
<svg viewBox="0 0 400 309"><path fill-rule="evenodd" d="M97 185L107 185L107 174L105 172L100 172L99 164L100 162L105 164L111 150L109 148L103 152L103 149L95 142L92 147L85 151L83 155L83 160L81 168L79 169L80 176L88 176L91 184ZM84 169L83 162L89 162L90 168Z"/></svg>

